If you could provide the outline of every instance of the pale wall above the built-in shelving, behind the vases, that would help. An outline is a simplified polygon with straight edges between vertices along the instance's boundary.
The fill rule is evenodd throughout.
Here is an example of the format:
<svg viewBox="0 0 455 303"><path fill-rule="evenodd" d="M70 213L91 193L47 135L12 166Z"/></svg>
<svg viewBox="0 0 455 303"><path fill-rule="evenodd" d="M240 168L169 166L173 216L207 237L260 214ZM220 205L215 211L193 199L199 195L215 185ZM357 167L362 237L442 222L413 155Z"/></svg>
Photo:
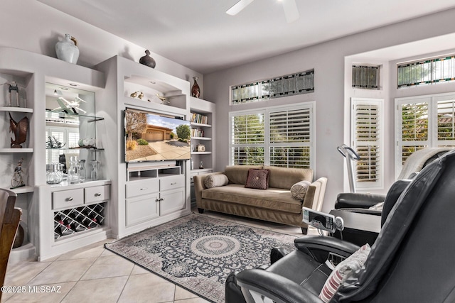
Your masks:
<svg viewBox="0 0 455 303"><path fill-rule="evenodd" d="M0 46L50 57L56 57L55 43L69 33L79 44L77 65L85 67L93 67L114 55L139 62L148 48L147 45L130 43L35 0L1 0L0 26ZM151 53L151 57L156 61L156 70L185 79L191 84L193 76L200 77L198 84L203 89L203 75L199 72L155 53Z"/></svg>

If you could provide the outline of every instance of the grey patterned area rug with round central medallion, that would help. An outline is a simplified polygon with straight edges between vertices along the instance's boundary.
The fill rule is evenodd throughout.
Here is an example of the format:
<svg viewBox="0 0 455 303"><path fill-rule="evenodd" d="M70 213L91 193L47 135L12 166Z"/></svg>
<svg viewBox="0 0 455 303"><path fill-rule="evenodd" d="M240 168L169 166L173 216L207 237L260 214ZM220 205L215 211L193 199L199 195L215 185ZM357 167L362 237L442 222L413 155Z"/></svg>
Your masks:
<svg viewBox="0 0 455 303"><path fill-rule="evenodd" d="M294 236L190 214L114 243L113 251L204 297L225 302L232 271L269 264L272 247L294 249Z"/></svg>

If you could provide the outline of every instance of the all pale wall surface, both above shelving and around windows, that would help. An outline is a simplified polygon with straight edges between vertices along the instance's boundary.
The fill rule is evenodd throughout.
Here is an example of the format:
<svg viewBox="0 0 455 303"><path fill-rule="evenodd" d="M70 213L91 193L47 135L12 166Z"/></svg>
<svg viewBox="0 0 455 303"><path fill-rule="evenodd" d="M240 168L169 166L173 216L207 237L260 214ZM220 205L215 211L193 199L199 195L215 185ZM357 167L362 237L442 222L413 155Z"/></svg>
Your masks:
<svg viewBox="0 0 455 303"><path fill-rule="evenodd" d="M210 75L200 75L198 72L158 54L152 53L151 56L156 60L156 70L186 79L191 83L191 77L195 75L200 77L198 83L204 94L204 99L217 103L216 137L218 140L216 150L218 153L215 160L217 170L223 170L224 166L228 164L229 111L316 101L316 177L328 177L328 189L323 206L323 210L328 211L333 206L336 194L344 190L344 162L343 158L336 152L336 146L345 143L345 134L349 131L346 129L348 116L345 115L345 63L348 61L346 57L350 56L353 58L349 60L355 60L355 55L365 55L366 52L393 48L395 45L406 46L409 53L408 55L401 55L401 57L417 56L419 50L415 46L413 47L415 41L454 33L454 14L455 9L452 9L373 31L350 35L285 55L213 72ZM0 46L20 48L51 57L55 57L55 43L63 38L65 33L70 33L79 41L80 59L77 64L86 67L93 67L114 55L139 61L139 57L144 55L144 50L147 48L146 45L129 43L127 40L33 0L2 0L0 24ZM455 40L451 39L449 42L451 41ZM432 43L431 40L428 43ZM455 45L447 47L444 44L439 50L449 48L455 48ZM422 50L422 53L429 52ZM368 55L372 55L373 58L375 56L374 52L368 53ZM395 55L393 60L397 60L397 58L399 57ZM230 85L277 75L287 75L291 72L312 68L316 72L316 90L313 94L284 97L262 104L229 105ZM390 73L393 73L392 71L393 66L390 65ZM389 81L392 83L392 79ZM395 92L390 92L387 98L388 102L393 101L393 95ZM387 111L390 117L386 117L386 123L393 123L390 108ZM390 131L387 133L390 134ZM387 158L390 158L392 148L389 146L387 150ZM390 165L387 166L389 168L385 173L388 179L385 182L386 188L387 184L391 182Z"/></svg>

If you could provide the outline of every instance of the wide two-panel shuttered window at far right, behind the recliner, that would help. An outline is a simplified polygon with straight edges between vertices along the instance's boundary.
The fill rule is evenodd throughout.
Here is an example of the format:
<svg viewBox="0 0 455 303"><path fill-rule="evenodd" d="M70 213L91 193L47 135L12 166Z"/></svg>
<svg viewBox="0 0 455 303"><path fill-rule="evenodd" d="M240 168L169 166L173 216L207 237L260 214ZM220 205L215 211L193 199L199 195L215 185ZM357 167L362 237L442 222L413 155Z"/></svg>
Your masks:
<svg viewBox="0 0 455 303"><path fill-rule="evenodd" d="M395 121L395 176L417 150L455 147L455 94L398 98Z"/></svg>

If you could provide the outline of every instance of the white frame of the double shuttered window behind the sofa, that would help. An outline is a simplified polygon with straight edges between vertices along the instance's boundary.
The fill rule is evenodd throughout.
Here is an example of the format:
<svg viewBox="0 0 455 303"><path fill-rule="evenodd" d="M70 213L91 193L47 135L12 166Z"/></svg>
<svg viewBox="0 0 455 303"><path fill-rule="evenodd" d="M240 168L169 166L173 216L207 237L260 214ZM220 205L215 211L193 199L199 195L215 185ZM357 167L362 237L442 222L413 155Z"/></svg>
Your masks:
<svg viewBox="0 0 455 303"><path fill-rule="evenodd" d="M229 129L229 165L233 165L232 163L232 148L236 147L235 144L232 143L232 119L235 116L245 116L249 114L264 114L264 143L263 144L251 144L251 146L260 146L264 148L264 164L263 165L270 165L270 148L277 147L277 146L284 146L284 147L296 147L297 143L270 143L270 125L269 125L269 114L272 112L279 112L279 111L293 111L293 110L301 110L301 109L309 109L310 111L310 140L309 142L301 143L297 146L309 146L310 150L310 161L309 161L309 168L315 171L316 168L316 153L315 153L315 137L316 137L316 123L315 123L315 115L316 115L316 102L315 101L306 101L302 102L299 105L289 105L289 106L269 106L267 108L258 108L258 109L248 109L242 111L230 111L229 113L229 120L228 120L228 129ZM248 145L244 145L247 147Z"/></svg>

